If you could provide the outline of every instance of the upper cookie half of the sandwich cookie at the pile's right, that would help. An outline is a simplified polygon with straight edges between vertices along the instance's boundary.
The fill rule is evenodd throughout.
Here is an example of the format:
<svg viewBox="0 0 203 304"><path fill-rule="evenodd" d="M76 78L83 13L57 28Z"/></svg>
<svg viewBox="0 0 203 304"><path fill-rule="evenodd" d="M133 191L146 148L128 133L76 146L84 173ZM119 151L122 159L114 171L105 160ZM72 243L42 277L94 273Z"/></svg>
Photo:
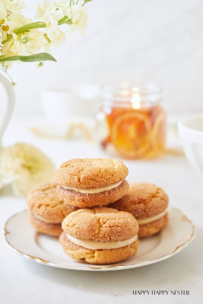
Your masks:
<svg viewBox="0 0 203 304"><path fill-rule="evenodd" d="M136 219L145 219L163 212L168 196L162 188L150 183L130 183L128 193L108 207L127 211Z"/></svg>

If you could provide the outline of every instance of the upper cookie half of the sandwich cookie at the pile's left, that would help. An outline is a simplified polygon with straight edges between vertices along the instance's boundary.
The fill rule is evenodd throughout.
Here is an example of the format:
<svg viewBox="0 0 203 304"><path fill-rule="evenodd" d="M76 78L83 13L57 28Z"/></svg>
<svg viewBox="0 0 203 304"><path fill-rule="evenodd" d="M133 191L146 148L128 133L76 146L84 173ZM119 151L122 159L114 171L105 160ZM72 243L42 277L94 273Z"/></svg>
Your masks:
<svg viewBox="0 0 203 304"><path fill-rule="evenodd" d="M77 207L68 206L58 195L56 183L47 183L33 189L27 195L27 205L36 216L50 223L61 223Z"/></svg>

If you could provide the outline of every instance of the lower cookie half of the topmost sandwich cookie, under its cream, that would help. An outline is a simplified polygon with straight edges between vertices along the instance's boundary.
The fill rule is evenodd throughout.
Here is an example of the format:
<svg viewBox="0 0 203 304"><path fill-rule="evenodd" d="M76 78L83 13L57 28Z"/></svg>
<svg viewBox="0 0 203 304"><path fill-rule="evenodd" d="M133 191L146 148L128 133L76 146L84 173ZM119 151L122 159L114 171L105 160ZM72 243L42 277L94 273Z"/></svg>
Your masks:
<svg viewBox="0 0 203 304"><path fill-rule="evenodd" d="M95 194L85 194L80 192L75 192L73 190L64 189L62 186L58 187L58 195L64 202L70 206L77 206L79 208L91 208L96 206L106 206L110 202L115 202L120 199L123 195L128 192L129 184L124 179L124 181L118 187L95 193Z"/></svg>

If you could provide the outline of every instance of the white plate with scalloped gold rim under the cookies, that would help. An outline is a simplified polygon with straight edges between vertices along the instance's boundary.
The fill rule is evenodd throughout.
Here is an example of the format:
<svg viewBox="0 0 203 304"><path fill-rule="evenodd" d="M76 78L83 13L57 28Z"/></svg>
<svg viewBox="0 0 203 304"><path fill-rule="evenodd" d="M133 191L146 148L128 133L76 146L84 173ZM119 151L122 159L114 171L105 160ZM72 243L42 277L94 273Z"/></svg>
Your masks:
<svg viewBox="0 0 203 304"><path fill-rule="evenodd" d="M141 239L134 257L110 265L93 265L66 255L58 238L37 233L29 223L27 210L14 214L5 223L5 240L16 252L41 264L75 270L120 270L153 264L180 252L193 237L191 221L180 210L170 207L168 226L152 237Z"/></svg>

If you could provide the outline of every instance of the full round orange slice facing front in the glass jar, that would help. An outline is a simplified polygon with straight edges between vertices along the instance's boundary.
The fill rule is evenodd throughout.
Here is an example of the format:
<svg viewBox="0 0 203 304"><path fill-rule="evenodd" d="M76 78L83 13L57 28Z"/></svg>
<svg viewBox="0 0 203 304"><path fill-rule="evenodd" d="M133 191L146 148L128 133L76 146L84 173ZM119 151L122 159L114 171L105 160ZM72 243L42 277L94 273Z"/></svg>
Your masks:
<svg viewBox="0 0 203 304"><path fill-rule="evenodd" d="M148 117L137 111L118 116L111 128L111 142L126 158L139 158L150 146L151 125Z"/></svg>

